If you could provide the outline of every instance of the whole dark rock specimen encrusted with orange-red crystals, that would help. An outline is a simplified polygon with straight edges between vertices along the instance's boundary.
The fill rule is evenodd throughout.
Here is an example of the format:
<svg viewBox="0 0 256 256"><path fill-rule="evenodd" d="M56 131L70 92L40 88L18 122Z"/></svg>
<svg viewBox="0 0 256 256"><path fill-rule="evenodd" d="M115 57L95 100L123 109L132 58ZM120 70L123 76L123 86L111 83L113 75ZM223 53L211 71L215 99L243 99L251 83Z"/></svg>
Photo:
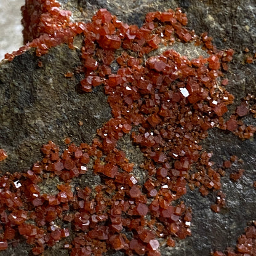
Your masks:
<svg viewBox="0 0 256 256"><path fill-rule="evenodd" d="M255 217L255 142L238 138L255 132L254 79L241 94L255 70L247 39L230 43L240 54L227 76L234 50L186 28L182 10L169 9L177 3L126 13L122 1L62 4L26 1L26 45L1 65L2 254L25 238L34 255L221 255ZM112 14L101 8L89 22L85 11L98 7ZM145 23L119 20L132 14ZM254 255L254 226L246 232L235 255Z"/></svg>

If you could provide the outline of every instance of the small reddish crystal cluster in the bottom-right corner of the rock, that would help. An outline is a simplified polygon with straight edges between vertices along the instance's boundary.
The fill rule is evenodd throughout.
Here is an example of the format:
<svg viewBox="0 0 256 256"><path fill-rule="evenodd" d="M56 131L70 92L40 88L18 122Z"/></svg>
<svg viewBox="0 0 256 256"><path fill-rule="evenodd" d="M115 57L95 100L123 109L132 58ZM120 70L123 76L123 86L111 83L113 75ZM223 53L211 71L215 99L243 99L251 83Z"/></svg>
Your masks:
<svg viewBox="0 0 256 256"><path fill-rule="evenodd" d="M256 255L256 223L245 228L244 234L239 236L236 249L226 248L225 252L216 251L212 256L255 256Z"/></svg>

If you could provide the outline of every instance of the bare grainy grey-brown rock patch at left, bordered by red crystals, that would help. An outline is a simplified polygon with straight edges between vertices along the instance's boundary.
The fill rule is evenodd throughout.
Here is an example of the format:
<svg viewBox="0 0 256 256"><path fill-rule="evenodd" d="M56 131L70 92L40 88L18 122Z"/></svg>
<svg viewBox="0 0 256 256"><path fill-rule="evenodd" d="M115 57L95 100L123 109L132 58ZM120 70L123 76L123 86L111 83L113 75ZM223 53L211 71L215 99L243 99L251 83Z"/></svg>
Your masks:
<svg viewBox="0 0 256 256"><path fill-rule="evenodd" d="M79 74L65 78L68 71L76 73L79 65L79 52L64 45L40 59L31 50L2 63L0 145L9 159L1 163L1 170L29 169L40 159L42 143L49 140L62 149L66 137L90 143L96 129L108 121L111 113L103 90L98 87L92 94L82 94Z"/></svg>

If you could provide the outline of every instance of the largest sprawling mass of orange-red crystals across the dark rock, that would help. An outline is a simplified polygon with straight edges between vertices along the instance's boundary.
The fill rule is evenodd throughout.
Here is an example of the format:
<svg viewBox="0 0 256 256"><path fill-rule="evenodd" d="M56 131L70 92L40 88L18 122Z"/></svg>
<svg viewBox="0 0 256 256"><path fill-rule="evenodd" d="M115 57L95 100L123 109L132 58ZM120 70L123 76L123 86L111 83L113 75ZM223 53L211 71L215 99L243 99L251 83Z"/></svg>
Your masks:
<svg viewBox="0 0 256 256"><path fill-rule="evenodd" d="M190 236L191 210L177 199L187 185L203 195L221 188L223 170L212 167L212 154L202 152L199 143L212 127L235 130L233 119L222 118L233 102L222 73L233 50L217 50L206 33L199 37L187 30L180 9L151 12L141 28L105 9L90 23L71 23L71 13L55 1L27 0L23 15L25 41L31 42L6 58L30 47L37 55L60 43L72 48L74 36L82 34L81 88L90 92L103 84L113 118L91 145L71 144L60 156L49 142L42 148L44 159L31 170L0 178L0 250L22 235L34 245L34 255L65 239L63 247L72 256L113 250L158 256L160 241L175 246L175 239ZM209 57L189 60L172 49L153 56L176 41L196 44ZM245 112L242 106L236 110L238 116ZM118 149L126 134L145 156L145 179L136 177L134 163ZM90 162L102 183L73 186ZM54 177L60 180L58 192L42 193L40 184ZM218 196L224 203L221 191Z"/></svg>

